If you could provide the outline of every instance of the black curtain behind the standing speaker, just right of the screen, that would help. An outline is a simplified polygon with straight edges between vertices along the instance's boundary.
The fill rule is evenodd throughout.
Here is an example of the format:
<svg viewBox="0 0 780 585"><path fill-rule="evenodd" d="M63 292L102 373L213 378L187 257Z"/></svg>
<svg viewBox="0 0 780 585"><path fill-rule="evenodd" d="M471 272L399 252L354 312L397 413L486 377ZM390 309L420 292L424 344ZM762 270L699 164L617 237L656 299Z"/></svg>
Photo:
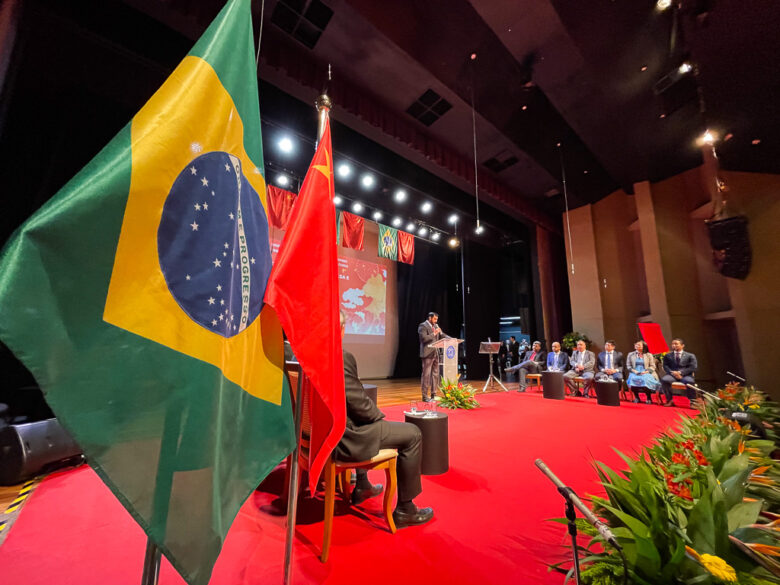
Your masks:
<svg viewBox="0 0 780 585"><path fill-rule="evenodd" d="M414 264L398 263L398 355L394 378L420 375L417 327L428 312L439 313L442 331L457 337L462 322L460 260L457 251L415 240Z"/></svg>

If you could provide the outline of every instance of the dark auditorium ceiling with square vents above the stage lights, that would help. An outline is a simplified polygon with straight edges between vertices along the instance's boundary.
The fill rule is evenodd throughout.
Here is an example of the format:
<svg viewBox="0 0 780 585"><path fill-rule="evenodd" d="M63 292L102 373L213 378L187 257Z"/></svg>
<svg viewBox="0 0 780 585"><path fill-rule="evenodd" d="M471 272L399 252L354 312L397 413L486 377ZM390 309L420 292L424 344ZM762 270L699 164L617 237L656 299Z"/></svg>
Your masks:
<svg viewBox="0 0 780 585"><path fill-rule="evenodd" d="M94 2L67 4L84 26L99 21ZM164 72L224 2L99 4L127 29L119 42ZM260 2L253 12L257 27ZM572 207L700 164L705 128L720 136L723 167L780 171L775 0L664 11L650 0L267 0L263 19L267 165L302 175L307 157L275 154L272 137L312 142L307 108L330 64L334 149L380 179L368 203L391 211L404 186L433 198L442 229L445 211L474 214L472 124L481 217L505 239L518 222L560 231L561 161ZM693 70L677 73L686 61Z"/></svg>

